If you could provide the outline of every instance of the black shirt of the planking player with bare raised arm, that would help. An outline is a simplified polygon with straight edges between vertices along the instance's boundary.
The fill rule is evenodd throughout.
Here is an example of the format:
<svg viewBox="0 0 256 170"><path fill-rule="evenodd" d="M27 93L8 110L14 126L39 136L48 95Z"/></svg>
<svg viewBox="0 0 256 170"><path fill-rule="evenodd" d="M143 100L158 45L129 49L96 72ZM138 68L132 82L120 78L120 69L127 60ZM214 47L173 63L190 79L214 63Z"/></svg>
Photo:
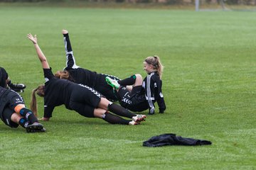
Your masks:
<svg viewBox="0 0 256 170"><path fill-rule="evenodd" d="M64 79L54 77L51 69L43 69L45 83L44 96L44 118L52 117L55 106L65 105L69 108L69 98L75 84Z"/></svg>

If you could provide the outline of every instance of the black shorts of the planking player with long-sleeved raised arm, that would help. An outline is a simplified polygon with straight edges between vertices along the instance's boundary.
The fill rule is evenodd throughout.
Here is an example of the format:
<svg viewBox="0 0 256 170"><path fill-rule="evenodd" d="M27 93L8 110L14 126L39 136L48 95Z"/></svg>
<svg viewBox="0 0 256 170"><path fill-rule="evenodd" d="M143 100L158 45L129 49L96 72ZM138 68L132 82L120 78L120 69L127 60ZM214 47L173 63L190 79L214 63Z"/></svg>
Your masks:
<svg viewBox="0 0 256 170"><path fill-rule="evenodd" d="M112 75L100 74L98 77L97 84L95 85L95 89L100 92L103 96L105 96L110 101L117 101L117 91L115 91L112 86L107 84L106 77L110 77L111 79L117 79L118 77L114 77Z"/></svg>

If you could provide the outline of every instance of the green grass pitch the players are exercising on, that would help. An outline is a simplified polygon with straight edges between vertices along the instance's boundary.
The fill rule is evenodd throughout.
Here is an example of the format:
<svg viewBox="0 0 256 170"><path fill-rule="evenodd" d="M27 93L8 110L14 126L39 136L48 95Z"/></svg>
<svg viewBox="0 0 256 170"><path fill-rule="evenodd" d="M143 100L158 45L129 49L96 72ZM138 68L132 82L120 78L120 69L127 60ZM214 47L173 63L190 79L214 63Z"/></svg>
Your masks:
<svg viewBox="0 0 256 170"><path fill-rule="evenodd" d="M64 106L43 122L46 133L1 122L0 169L256 169L255 12L0 4L0 26L0 65L27 85L27 105L44 79L26 34L38 35L55 72L65 67L65 28L77 64L99 73L145 77L144 58L159 55L167 106L137 126L84 118ZM39 97L38 110L42 116ZM213 145L142 147L169 132Z"/></svg>

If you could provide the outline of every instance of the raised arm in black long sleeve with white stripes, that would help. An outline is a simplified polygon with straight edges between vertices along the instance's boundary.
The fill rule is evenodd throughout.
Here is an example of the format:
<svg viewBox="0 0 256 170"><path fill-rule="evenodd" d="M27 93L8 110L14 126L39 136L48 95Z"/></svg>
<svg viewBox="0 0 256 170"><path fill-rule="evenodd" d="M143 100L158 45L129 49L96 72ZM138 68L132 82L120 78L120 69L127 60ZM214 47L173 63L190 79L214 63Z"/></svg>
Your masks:
<svg viewBox="0 0 256 170"><path fill-rule="evenodd" d="M68 30L63 30L63 40L65 45L65 55L66 55L66 67L65 69L77 69L78 66L75 64L75 57L73 55L73 50L71 47L71 42L68 36Z"/></svg>

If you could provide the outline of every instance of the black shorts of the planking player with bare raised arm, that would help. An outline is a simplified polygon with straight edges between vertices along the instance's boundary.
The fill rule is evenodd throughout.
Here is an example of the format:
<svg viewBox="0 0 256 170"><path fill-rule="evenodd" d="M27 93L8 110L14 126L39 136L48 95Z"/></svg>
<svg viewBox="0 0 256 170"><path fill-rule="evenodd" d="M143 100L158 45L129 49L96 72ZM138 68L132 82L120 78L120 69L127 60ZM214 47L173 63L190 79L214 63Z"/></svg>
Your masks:
<svg viewBox="0 0 256 170"><path fill-rule="evenodd" d="M100 103L101 94L95 89L81 85L73 90L70 96L69 107L87 118L95 118L94 110Z"/></svg>

